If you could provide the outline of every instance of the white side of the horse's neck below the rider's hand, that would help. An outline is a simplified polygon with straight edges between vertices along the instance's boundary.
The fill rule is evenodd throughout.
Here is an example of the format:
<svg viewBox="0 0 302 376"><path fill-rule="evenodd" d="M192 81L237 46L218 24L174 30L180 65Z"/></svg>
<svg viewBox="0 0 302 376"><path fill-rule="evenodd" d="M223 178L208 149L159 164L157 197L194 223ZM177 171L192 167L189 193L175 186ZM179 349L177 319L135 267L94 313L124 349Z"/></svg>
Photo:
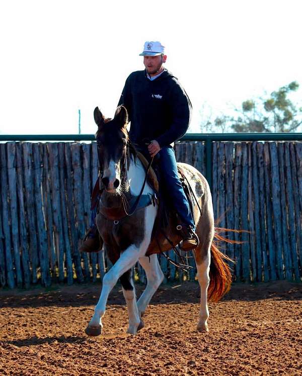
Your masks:
<svg viewBox="0 0 302 376"><path fill-rule="evenodd" d="M139 195L145 176L146 171L142 166L140 160L136 158L136 163L134 163L133 157L131 156L129 170L127 171L127 178L129 182L130 192L133 196ZM152 188L147 182L142 193L153 193Z"/></svg>

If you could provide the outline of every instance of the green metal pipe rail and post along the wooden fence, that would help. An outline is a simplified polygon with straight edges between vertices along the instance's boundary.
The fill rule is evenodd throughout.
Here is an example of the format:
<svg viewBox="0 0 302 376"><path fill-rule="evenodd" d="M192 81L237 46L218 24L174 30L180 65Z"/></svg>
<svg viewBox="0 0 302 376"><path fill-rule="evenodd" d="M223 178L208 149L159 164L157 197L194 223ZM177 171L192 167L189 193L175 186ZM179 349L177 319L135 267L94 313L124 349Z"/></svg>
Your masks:
<svg viewBox="0 0 302 376"><path fill-rule="evenodd" d="M0 135L4 141L94 141L93 134ZM212 190L212 142L214 141L302 141L302 133L187 133L181 141L204 141L206 179Z"/></svg>

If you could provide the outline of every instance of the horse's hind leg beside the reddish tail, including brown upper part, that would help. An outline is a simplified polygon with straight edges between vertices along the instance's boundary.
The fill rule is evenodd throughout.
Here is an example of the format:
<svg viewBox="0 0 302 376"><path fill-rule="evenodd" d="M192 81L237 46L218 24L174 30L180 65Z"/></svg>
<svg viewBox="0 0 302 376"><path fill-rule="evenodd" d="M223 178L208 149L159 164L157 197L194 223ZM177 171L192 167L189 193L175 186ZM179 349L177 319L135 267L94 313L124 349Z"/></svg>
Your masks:
<svg viewBox="0 0 302 376"><path fill-rule="evenodd" d="M197 279L200 286L200 311L197 330L199 332L208 332L207 319L209 317L209 310L207 307L207 290L210 283L210 244L200 244L194 252Z"/></svg>

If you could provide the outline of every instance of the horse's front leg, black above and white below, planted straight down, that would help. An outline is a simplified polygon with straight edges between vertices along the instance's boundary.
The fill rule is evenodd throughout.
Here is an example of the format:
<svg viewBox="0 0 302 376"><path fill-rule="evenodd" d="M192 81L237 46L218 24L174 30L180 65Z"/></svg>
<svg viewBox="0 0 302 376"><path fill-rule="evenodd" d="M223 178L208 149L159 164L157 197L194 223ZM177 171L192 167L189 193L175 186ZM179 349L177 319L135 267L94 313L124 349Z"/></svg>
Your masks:
<svg viewBox="0 0 302 376"><path fill-rule="evenodd" d="M135 288L132 280L132 269L128 270L120 277L122 284L124 298L128 307L129 327L127 333L136 334L136 332L143 328L143 323L140 320L139 312L136 305Z"/></svg>

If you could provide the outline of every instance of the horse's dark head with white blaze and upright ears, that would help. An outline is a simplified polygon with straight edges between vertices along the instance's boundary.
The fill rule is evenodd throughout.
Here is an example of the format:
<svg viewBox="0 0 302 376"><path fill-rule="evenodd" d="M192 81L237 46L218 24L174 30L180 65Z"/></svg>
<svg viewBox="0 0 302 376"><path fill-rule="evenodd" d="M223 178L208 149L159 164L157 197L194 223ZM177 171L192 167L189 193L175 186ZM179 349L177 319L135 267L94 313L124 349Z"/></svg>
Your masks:
<svg viewBox="0 0 302 376"><path fill-rule="evenodd" d="M127 145L129 142L128 114L118 106L113 119L105 119L98 107L94 111L98 125L96 134L101 181L108 193L118 193L125 173Z"/></svg>

